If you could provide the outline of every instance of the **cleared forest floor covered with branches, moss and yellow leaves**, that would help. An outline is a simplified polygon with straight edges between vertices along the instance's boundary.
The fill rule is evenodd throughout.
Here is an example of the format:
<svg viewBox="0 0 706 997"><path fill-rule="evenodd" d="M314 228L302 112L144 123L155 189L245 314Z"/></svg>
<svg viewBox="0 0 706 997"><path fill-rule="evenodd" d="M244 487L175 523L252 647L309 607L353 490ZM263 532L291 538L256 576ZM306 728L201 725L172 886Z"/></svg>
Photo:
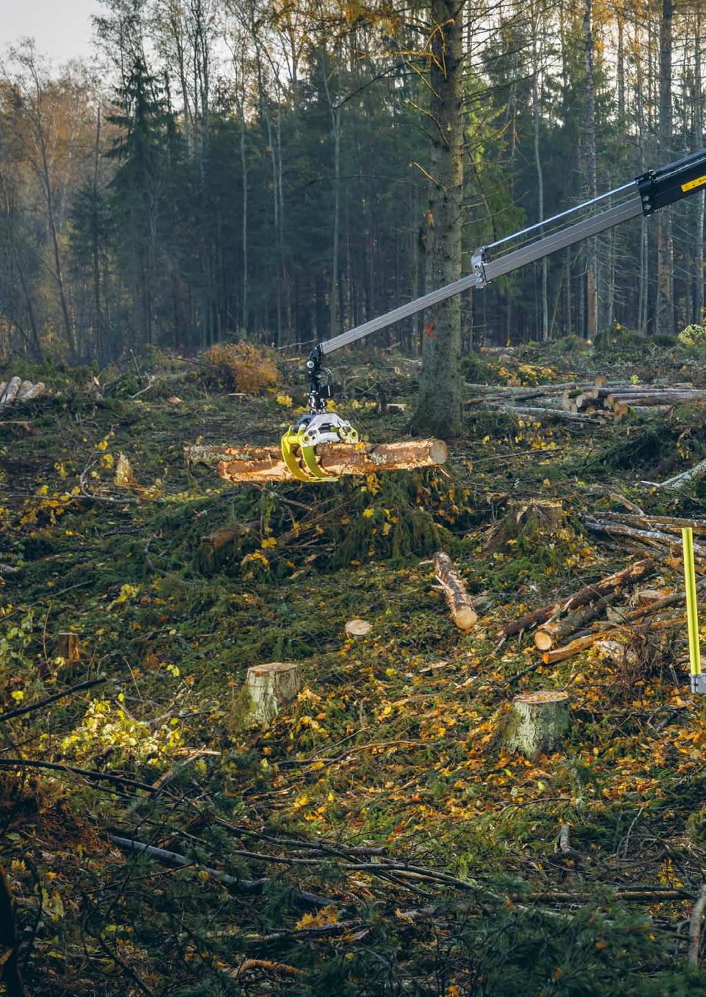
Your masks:
<svg viewBox="0 0 706 997"><path fill-rule="evenodd" d="M528 346L466 374L703 387L703 359ZM51 392L0 415L0 862L26 992L706 994L687 964L706 709L681 617L618 664L586 650L544 665L531 634L499 637L639 556L583 513L702 516L704 480L643 483L706 456L706 409L613 423L472 407L445 468L312 487L189 468L189 444L278 441L303 395L280 366L258 397L166 356L100 377L11 371ZM405 436L414 362L351 354L336 373L367 438ZM377 413L379 383L406 411ZM510 500L537 497L562 502L560 534L488 545ZM470 633L437 549L486 597ZM657 557L651 588L679 590L677 555ZM352 617L366 637L346 636ZM79 634L79 661L60 631ZM270 661L298 662L303 689L248 726L246 669ZM563 750L508 755L513 697L547 688L570 692Z"/></svg>

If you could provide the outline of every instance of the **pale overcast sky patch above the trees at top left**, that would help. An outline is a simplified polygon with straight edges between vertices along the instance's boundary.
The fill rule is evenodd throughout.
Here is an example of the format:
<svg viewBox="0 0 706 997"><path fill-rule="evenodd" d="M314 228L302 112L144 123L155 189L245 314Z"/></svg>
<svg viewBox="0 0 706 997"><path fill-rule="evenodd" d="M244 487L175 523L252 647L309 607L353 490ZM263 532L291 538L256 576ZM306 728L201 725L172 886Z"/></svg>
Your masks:
<svg viewBox="0 0 706 997"><path fill-rule="evenodd" d="M91 15L100 12L99 0L0 0L0 38L14 45L29 35L57 66L86 59L93 54Z"/></svg>

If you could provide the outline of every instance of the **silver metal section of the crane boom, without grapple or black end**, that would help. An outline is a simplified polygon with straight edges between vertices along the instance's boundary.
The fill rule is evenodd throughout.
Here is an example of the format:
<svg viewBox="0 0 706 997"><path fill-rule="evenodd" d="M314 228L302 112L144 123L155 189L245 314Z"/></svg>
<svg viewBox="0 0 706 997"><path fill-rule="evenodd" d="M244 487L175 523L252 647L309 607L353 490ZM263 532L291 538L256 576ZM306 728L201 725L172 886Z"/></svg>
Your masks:
<svg viewBox="0 0 706 997"><path fill-rule="evenodd" d="M624 192L629 190L631 187L634 192L618 204L607 207L597 214L591 214L589 217L576 221L572 225L559 228L551 234L540 235L539 238L534 239L534 241L529 242L527 245L513 249L510 252L499 256L497 259L486 259L486 253L496 246L513 239L519 239L532 231L544 230L551 224L561 218L565 218L569 214L590 208L599 201L605 200L608 197L624 194ZM409 301L405 305L400 305L399 308L393 308L392 311L387 312L385 315L379 315L377 318L371 318L368 322L363 322L361 325L357 325L355 328L349 329L347 332L342 332L338 336L334 336L332 339L328 339L324 343L320 343L318 347L320 355L326 356L329 353L333 353L335 350L342 349L344 346L349 346L351 343L355 343L358 339L362 339L364 336L369 336L371 333L378 332L380 329L386 329L388 326L394 325L395 322L401 322L403 319L409 318L411 315L416 315L418 312L424 311L426 308L431 308L433 305L439 304L440 301L446 301L447 298L451 298L455 294L461 294L463 291L468 291L472 288L485 287L489 281L494 280L496 277L502 277L506 273L512 273L513 270L517 270L521 266L525 266L527 263L533 263L544 256L548 256L549 253L556 252L557 249L564 249L566 246L573 245L575 242L581 242L583 239L590 238L591 235L597 235L599 232L603 232L607 228L612 228L614 225L619 225L623 221L628 221L630 218L636 218L638 215L643 213L644 203L638 188L637 180L633 180L630 183L616 187L614 190L608 190L606 193L599 194L597 197L592 197L590 200L584 201L582 204L577 204L576 207L568 208L568 210L561 211L559 214L555 214L551 218L546 218L545 221L539 221L534 225L530 225L528 228L524 228L519 232L514 232L512 235L499 239L497 242L493 242L488 246L481 246L474 252L472 257L472 273L468 274L466 277L461 277L459 280L455 280L451 284L446 284L444 287L440 287L436 291L430 291L429 294L424 294L421 298L415 298L414 301Z"/></svg>

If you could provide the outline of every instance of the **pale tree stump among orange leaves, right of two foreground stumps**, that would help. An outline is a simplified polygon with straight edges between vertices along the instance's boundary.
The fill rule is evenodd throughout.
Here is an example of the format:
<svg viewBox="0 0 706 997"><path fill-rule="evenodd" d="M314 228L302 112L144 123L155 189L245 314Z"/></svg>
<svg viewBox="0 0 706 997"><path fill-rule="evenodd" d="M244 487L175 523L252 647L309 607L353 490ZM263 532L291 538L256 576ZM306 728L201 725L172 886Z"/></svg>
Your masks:
<svg viewBox="0 0 706 997"><path fill-rule="evenodd" d="M535 759L560 748L570 724L567 692L522 693L513 701L501 743L508 752Z"/></svg>

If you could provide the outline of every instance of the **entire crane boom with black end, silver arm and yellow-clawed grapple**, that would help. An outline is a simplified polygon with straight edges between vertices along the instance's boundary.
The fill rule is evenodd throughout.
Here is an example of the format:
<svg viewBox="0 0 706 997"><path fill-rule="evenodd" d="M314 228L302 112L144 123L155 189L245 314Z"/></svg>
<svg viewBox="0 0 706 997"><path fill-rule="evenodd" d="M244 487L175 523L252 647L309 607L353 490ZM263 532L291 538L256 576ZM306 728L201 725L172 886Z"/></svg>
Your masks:
<svg viewBox="0 0 706 997"><path fill-rule="evenodd" d="M480 246L472 255L472 272L467 276L415 298L385 315L363 322L332 339L317 343L306 361L309 415L290 427L282 438L282 454L289 470L301 481L330 481L316 464L314 447L319 443L356 443L358 440L358 434L350 423L335 413L326 411L326 402L331 397L331 374L322 367L321 361L329 353L431 308L455 294L485 287L497 277L512 273L521 266L534 263L558 249L582 242L608 228L614 228L630 218L649 216L661 207L688 197L704 187L706 149L666 166L648 169L629 183L592 197L512 235L506 235L496 242ZM581 214L583 217L574 220L573 216ZM519 244L508 248L508 243ZM295 447L301 453L303 468L294 456Z"/></svg>

